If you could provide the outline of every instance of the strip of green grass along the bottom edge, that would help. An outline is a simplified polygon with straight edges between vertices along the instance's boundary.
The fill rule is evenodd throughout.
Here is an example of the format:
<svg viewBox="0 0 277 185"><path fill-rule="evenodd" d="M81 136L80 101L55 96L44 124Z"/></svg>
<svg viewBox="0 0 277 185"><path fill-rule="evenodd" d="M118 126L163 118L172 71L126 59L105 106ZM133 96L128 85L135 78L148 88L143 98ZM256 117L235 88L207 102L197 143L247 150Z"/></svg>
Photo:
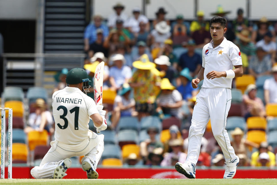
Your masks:
<svg viewBox="0 0 277 185"><path fill-rule="evenodd" d="M1 179L0 184L36 185L277 185L277 179Z"/></svg>

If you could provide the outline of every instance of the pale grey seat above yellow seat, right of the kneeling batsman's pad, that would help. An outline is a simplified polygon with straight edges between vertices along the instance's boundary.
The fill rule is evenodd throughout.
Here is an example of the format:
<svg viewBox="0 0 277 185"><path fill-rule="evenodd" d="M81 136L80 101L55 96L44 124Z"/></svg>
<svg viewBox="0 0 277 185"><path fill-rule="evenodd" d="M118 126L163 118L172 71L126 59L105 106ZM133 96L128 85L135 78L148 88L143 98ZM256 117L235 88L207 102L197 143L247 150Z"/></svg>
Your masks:
<svg viewBox="0 0 277 185"><path fill-rule="evenodd" d="M118 132L118 144L122 148L123 145L137 144L138 133L134 130L121 130Z"/></svg>

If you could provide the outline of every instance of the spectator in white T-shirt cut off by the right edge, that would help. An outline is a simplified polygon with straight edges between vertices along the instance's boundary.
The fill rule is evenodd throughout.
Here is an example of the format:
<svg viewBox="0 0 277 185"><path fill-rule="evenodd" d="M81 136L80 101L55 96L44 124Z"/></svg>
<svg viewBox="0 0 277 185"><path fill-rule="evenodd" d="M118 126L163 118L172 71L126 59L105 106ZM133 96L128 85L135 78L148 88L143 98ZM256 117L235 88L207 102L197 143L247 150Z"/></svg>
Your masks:
<svg viewBox="0 0 277 185"><path fill-rule="evenodd" d="M277 103L277 66L271 70L273 77L266 79L263 85L265 103Z"/></svg>

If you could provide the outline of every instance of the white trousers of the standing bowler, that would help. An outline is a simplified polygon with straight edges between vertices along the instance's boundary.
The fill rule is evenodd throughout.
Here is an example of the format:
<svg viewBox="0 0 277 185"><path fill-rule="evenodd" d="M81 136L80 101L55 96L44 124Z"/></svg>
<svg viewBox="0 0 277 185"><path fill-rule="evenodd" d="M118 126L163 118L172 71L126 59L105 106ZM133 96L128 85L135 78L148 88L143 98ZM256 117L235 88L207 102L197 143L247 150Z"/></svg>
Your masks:
<svg viewBox="0 0 277 185"><path fill-rule="evenodd" d="M196 96L196 103L192 113L186 161L193 164L197 163L201 138L209 119L211 119L214 138L221 147L226 162L231 162L236 158L235 151L230 144L230 139L225 129L231 99L230 88L201 88Z"/></svg>

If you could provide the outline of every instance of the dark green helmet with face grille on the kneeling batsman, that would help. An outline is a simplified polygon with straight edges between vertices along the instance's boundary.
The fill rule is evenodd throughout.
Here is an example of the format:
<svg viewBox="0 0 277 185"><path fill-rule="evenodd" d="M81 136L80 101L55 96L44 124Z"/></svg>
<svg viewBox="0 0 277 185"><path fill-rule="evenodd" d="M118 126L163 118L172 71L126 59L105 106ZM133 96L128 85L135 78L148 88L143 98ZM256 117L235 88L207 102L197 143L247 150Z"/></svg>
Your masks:
<svg viewBox="0 0 277 185"><path fill-rule="evenodd" d="M83 90L89 92L89 82L91 81L89 80L87 72L84 69L77 67L68 71L65 82L67 84L79 84L83 82Z"/></svg>

